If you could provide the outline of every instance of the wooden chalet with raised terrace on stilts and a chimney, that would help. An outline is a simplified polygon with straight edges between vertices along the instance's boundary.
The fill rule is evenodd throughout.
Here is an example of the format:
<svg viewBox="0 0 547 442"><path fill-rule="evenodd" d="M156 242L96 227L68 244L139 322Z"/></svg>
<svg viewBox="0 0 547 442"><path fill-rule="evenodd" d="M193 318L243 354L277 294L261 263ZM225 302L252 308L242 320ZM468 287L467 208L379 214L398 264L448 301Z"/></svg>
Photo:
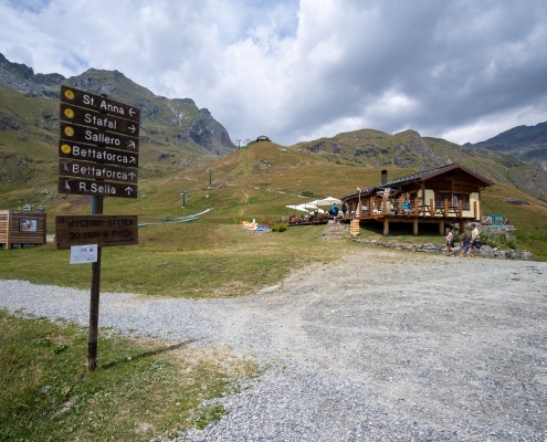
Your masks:
<svg viewBox="0 0 547 442"><path fill-rule="evenodd" d="M494 183L466 167L452 164L388 181L381 171L381 183L343 198L351 219L359 222L382 222L389 234L390 222L436 223L444 233L445 223L482 219L481 191Z"/></svg>

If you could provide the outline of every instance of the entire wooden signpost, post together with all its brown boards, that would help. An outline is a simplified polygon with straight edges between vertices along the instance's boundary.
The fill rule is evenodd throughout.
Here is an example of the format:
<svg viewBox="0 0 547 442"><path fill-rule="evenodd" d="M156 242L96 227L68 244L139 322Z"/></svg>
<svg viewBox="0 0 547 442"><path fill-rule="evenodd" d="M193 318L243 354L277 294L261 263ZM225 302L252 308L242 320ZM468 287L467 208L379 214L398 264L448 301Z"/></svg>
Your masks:
<svg viewBox="0 0 547 442"><path fill-rule="evenodd" d="M90 194L92 214L56 215L57 250L97 245L92 264L87 370L97 366L102 248L138 244L136 214L103 214L103 198L137 198L140 109L61 86L60 193Z"/></svg>

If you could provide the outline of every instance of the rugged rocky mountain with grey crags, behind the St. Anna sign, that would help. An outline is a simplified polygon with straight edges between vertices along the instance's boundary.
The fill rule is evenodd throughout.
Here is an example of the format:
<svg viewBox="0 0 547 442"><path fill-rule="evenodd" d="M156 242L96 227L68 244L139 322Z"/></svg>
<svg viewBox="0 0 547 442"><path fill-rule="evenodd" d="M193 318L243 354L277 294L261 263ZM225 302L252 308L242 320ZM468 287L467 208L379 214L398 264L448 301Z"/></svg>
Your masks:
<svg viewBox="0 0 547 442"><path fill-rule="evenodd" d="M55 130L59 129L56 113L50 113L46 120L32 118L30 114L33 107L51 108L44 101L51 101L57 106L61 84L93 94L107 94L109 98L140 107L141 154L148 160L169 159L171 164L180 165L196 162L199 156L214 158L235 150L224 127L212 117L209 109L198 108L190 98L157 96L118 71L91 69L70 78L60 74L34 74L32 67L12 63L2 54L0 85L9 86L19 96L12 94L11 106L7 99L0 101L0 143L3 130L21 130L25 127L30 129L29 136L32 129L39 129L52 131L55 138ZM7 94L9 90L3 91ZM33 98L34 104L29 98ZM21 104L23 102L24 105ZM30 127L33 125L35 127Z"/></svg>

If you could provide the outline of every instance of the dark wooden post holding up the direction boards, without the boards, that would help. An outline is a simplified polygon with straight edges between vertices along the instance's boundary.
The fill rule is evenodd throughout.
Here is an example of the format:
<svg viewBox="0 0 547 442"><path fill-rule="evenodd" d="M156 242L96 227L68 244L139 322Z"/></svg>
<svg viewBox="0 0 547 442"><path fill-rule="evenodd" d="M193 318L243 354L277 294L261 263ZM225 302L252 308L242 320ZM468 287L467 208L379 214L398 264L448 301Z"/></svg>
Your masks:
<svg viewBox="0 0 547 442"><path fill-rule="evenodd" d="M92 197L92 214L103 214L104 197ZM101 297L101 254L97 246L97 262L92 263L92 287L90 303L90 334L87 336L87 371L97 368L98 303Z"/></svg>

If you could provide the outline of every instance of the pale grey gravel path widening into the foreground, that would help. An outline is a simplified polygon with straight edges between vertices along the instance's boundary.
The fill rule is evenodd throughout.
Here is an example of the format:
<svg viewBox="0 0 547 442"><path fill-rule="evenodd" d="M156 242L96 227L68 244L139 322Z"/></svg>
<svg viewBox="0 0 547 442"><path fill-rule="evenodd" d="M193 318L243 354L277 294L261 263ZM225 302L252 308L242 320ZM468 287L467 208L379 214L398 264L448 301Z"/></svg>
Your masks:
<svg viewBox="0 0 547 442"><path fill-rule="evenodd" d="M231 299L102 294L99 326L270 368L189 441L547 441L547 263L364 246ZM0 306L88 323L88 291L0 280Z"/></svg>

